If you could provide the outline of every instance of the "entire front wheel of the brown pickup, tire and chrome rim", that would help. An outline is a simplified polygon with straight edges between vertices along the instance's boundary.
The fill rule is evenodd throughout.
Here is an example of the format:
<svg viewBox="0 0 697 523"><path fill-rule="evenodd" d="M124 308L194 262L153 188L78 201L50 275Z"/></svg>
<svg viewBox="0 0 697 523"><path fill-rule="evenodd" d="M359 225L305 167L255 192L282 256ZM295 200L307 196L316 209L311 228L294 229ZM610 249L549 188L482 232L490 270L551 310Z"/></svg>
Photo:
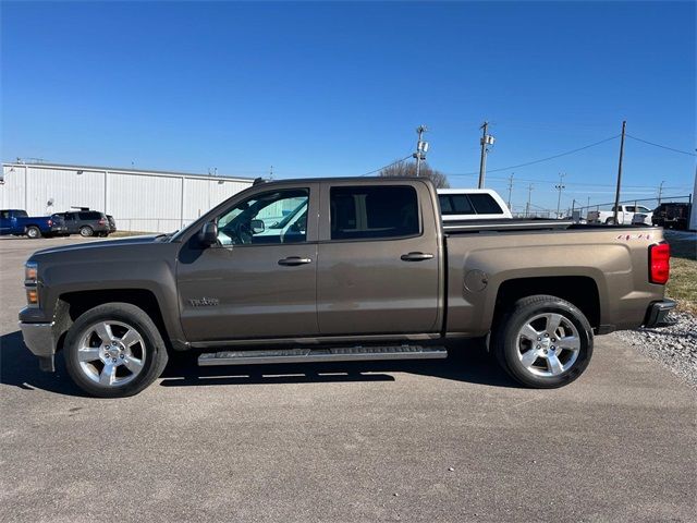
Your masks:
<svg viewBox="0 0 697 523"><path fill-rule="evenodd" d="M65 365L90 396L137 394L162 374L167 348L150 317L129 303L107 303L80 316L65 337Z"/></svg>

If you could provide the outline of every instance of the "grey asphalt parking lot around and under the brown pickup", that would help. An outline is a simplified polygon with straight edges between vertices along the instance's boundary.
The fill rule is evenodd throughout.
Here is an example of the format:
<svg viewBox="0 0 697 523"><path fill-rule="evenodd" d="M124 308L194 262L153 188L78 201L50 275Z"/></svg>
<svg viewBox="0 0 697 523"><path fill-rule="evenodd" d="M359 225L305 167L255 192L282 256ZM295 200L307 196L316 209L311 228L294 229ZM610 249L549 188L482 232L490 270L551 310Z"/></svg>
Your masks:
<svg viewBox="0 0 697 523"><path fill-rule="evenodd" d="M82 396L23 346L0 241L1 521L695 521L697 394L613 336L558 390L444 361L199 368Z"/></svg>

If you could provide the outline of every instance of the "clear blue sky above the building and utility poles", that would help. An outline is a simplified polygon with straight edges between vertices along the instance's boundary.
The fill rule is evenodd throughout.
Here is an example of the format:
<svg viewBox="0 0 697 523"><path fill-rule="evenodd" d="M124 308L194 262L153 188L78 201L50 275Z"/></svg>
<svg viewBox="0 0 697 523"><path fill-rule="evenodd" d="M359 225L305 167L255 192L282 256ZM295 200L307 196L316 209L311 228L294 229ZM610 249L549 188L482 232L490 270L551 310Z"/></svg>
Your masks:
<svg viewBox="0 0 697 523"><path fill-rule="evenodd" d="M694 2L2 3L2 158L277 178L413 150L453 186L615 136L694 153ZM619 141L491 172L555 206L612 199ZM690 192L695 158L627 139L625 196ZM587 185L586 185L587 184Z"/></svg>

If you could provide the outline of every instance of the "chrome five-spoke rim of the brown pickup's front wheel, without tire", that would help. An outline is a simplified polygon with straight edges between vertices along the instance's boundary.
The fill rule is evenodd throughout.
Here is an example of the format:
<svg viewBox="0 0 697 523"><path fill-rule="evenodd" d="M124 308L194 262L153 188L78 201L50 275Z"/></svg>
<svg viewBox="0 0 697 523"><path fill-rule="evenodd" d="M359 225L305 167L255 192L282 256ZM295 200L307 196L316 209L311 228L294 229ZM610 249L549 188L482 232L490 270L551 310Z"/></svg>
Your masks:
<svg viewBox="0 0 697 523"><path fill-rule="evenodd" d="M95 384L118 387L140 374L145 353L145 342L135 328L106 320L84 331L77 345L77 362Z"/></svg>

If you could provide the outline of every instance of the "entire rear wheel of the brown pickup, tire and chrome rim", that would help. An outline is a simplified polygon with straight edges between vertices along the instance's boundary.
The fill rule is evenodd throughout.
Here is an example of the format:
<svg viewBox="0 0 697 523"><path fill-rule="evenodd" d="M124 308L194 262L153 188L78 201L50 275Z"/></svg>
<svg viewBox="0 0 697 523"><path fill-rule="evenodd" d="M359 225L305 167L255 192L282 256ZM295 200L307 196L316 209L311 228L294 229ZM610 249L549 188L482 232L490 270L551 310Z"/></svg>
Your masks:
<svg viewBox="0 0 697 523"><path fill-rule="evenodd" d="M573 304L550 295L518 300L499 323L493 351L516 381L549 389L571 384L592 355L592 328Z"/></svg>

